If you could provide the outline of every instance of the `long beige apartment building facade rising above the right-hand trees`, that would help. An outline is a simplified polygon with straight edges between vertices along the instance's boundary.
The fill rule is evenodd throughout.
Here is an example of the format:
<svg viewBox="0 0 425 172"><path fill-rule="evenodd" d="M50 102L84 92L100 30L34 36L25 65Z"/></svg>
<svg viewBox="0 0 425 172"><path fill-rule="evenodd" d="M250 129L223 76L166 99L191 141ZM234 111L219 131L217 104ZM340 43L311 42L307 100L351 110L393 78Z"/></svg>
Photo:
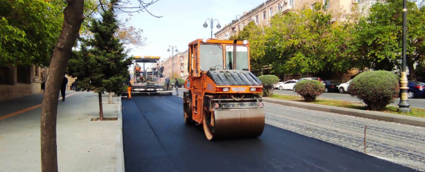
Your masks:
<svg viewBox="0 0 425 172"><path fill-rule="evenodd" d="M243 14L232 22L225 25L214 35L217 39L229 39L230 36L238 34L251 21L257 25L269 26L270 19L276 14L285 14L303 8L312 8L316 3L326 4L328 10L334 14L332 22L344 19L344 14L351 12L354 5L360 6L362 10L367 9L378 0L268 0L256 8L243 12Z"/></svg>

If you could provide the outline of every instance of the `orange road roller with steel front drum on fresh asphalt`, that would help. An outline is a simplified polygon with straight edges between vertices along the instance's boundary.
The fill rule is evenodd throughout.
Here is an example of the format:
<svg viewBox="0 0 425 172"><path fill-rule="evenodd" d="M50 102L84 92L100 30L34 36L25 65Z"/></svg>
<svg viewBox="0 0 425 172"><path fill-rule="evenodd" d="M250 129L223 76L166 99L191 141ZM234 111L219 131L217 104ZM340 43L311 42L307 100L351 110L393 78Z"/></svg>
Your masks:
<svg viewBox="0 0 425 172"><path fill-rule="evenodd" d="M208 140L260 136L263 85L250 72L248 41L197 39L188 46L186 125L203 125Z"/></svg>

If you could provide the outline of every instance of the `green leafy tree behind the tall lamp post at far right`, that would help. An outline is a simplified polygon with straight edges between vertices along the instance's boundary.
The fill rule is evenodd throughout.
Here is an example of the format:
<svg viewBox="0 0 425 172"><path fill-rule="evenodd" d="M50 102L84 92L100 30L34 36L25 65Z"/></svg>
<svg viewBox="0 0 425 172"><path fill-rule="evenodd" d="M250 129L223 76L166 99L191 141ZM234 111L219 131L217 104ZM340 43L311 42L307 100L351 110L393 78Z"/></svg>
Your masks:
<svg viewBox="0 0 425 172"><path fill-rule="evenodd" d="M424 63L425 9L407 2L406 57L411 79L415 80L415 63ZM401 69L402 1L375 3L369 15L354 25L349 52L356 58L356 67L391 71Z"/></svg>

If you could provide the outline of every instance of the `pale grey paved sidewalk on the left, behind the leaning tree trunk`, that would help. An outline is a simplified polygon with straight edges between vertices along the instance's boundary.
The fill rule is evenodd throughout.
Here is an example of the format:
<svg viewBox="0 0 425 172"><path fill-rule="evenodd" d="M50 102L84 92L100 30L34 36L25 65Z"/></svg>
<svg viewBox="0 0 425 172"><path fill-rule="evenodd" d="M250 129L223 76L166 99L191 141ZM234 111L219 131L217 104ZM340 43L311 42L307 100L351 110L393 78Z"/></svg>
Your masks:
<svg viewBox="0 0 425 172"><path fill-rule="evenodd" d="M0 102L0 171L41 171L42 97ZM114 104L107 104L107 94L103 94L102 102L105 117L118 120L91 121L99 116L98 95L93 92L67 91L65 102L59 100L59 171L123 171L121 99L113 97ZM28 107L34 109L5 118Z"/></svg>

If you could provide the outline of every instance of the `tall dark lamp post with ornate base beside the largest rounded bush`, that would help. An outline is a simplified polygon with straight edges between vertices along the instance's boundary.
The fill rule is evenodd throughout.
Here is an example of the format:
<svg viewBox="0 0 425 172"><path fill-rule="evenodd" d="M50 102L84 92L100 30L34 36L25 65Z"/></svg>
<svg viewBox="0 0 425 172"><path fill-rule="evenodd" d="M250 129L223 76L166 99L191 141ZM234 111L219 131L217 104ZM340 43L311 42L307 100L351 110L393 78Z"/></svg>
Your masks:
<svg viewBox="0 0 425 172"><path fill-rule="evenodd" d="M402 78L400 78L400 103L398 103L397 111L399 112L411 112L410 107L408 105L408 97L407 97L407 75L406 75L406 25L407 25L407 5L406 0L403 0L403 41L402 41Z"/></svg>

